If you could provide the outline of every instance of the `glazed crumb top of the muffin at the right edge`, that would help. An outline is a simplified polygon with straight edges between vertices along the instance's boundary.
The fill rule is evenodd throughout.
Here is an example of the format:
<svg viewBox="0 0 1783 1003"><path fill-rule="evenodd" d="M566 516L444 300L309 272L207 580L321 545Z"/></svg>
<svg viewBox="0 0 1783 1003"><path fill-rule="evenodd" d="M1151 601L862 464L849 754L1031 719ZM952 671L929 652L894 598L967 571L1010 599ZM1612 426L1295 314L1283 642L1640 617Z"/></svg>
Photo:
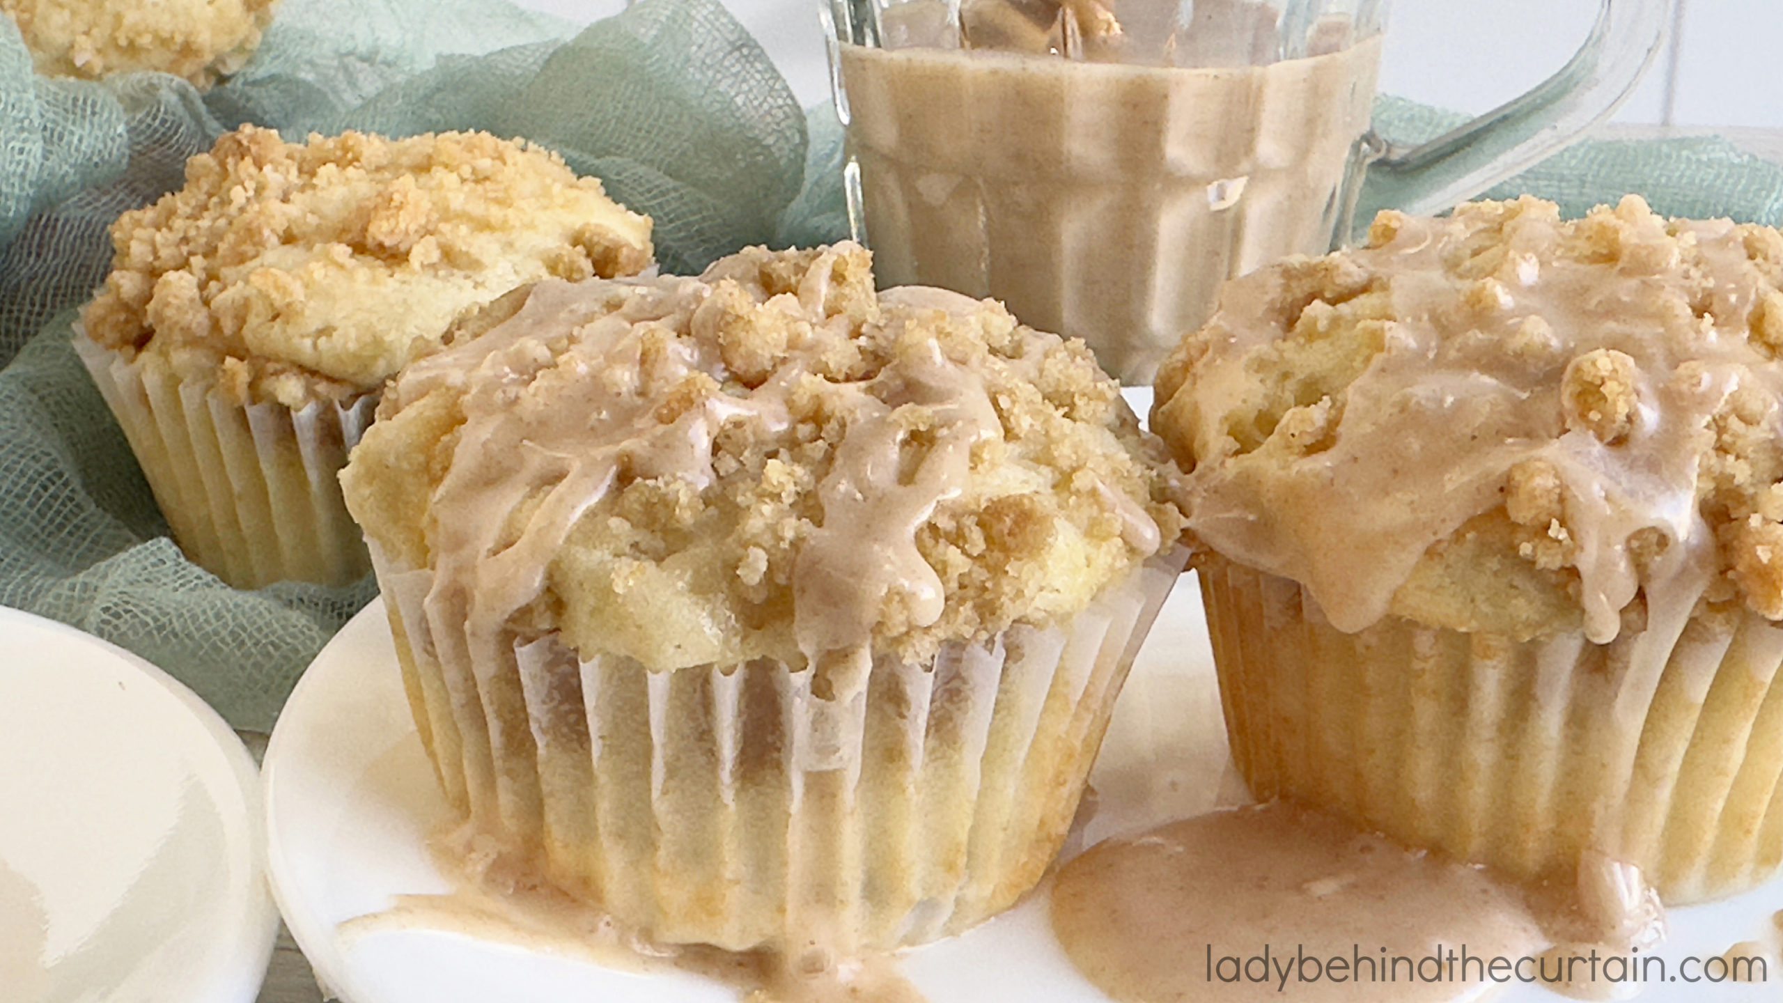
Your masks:
<svg viewBox="0 0 1783 1003"><path fill-rule="evenodd" d="M1228 284L1157 382L1191 532L1327 619L1606 642L1783 619L1783 237L1639 196L1382 212Z"/></svg>

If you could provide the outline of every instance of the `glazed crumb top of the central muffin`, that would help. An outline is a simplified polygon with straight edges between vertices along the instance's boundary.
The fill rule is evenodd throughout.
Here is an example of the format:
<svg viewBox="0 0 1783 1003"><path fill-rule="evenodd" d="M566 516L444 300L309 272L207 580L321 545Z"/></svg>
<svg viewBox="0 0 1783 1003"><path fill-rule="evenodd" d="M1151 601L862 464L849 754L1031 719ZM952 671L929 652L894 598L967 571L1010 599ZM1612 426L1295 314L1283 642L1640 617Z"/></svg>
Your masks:
<svg viewBox="0 0 1783 1003"><path fill-rule="evenodd" d="M1171 471L1082 343L875 294L843 243L505 296L390 384L342 484L472 637L665 671L1075 614L1179 534Z"/></svg>

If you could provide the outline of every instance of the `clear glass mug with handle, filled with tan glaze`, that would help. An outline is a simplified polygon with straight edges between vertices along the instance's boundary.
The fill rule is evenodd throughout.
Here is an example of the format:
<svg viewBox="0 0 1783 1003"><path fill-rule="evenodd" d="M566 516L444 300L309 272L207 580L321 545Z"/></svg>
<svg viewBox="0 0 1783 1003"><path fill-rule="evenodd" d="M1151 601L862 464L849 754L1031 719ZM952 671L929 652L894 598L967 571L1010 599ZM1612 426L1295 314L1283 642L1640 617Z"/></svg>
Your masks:
<svg viewBox="0 0 1783 1003"><path fill-rule="evenodd" d="M1485 191L1608 116L1676 0L1601 0L1555 77L1410 150L1369 130L1385 0L826 0L856 239L1150 382L1220 286Z"/></svg>

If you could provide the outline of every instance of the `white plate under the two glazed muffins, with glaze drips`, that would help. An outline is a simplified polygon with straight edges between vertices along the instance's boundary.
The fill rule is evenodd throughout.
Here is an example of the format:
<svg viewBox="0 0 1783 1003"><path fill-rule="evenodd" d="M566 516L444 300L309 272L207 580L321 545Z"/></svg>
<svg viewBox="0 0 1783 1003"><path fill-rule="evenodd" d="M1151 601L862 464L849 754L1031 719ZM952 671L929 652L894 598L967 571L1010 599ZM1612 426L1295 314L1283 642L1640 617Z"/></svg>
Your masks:
<svg viewBox="0 0 1783 1003"><path fill-rule="evenodd" d="M1216 803L1225 730L1193 578L1164 605L1109 728L1093 783L1088 841L1138 832ZM1228 780L1230 783L1230 780ZM426 837L446 817L403 698L382 603L323 650L273 732L266 755L269 873L298 944L348 1003L736 1003L695 976L640 976L553 953L426 928L342 935L339 924L387 910L398 894L446 892ZM1710 957L1760 939L1783 908L1783 882L1740 899L1672 910L1662 955ZM1107 1003L1064 958L1045 891L963 937L900 957L929 1003ZM1776 978L1776 973L1772 974ZM1762 985L1656 985L1644 1003L1774 1003ZM1498 999L1557 1003L1512 987Z"/></svg>

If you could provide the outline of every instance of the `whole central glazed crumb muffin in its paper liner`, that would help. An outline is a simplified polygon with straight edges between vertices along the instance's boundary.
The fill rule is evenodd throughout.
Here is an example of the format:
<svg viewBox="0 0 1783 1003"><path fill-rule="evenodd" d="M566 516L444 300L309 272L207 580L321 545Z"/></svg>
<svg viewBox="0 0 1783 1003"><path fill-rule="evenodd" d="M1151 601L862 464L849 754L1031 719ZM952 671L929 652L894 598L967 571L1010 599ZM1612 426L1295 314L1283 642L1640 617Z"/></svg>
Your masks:
<svg viewBox="0 0 1783 1003"><path fill-rule="evenodd" d="M847 243L472 330L342 473L460 817L669 944L847 957L1034 885L1186 562L1082 343Z"/></svg>

